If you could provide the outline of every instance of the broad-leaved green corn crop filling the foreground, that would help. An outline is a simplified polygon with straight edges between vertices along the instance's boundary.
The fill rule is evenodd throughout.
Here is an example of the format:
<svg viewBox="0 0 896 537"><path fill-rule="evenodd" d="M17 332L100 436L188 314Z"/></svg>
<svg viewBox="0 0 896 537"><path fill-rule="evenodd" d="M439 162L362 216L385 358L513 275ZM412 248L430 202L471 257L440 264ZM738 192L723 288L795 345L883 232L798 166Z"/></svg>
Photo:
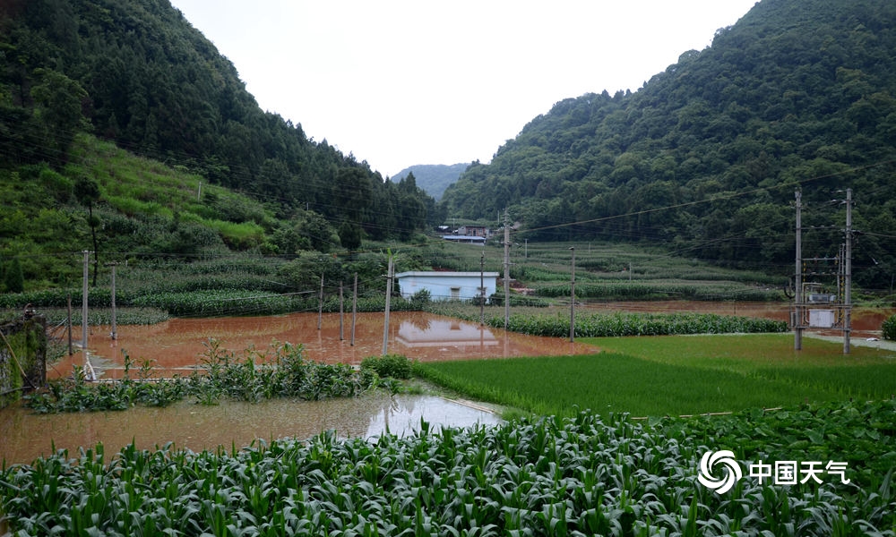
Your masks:
<svg viewBox="0 0 896 537"><path fill-rule="evenodd" d="M0 510L22 535L893 535L894 413L580 412L230 452L98 445L3 468Z"/></svg>

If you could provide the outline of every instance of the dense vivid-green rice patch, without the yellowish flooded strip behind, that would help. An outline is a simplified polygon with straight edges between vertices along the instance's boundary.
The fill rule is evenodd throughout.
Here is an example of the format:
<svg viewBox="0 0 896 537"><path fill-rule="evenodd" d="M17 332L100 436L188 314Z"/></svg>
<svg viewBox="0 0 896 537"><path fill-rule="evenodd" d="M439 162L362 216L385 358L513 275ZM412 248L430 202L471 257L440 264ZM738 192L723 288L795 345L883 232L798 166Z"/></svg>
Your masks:
<svg viewBox="0 0 896 537"><path fill-rule="evenodd" d="M468 396L538 414L718 413L838 398L835 390L625 354L425 362L415 371Z"/></svg>

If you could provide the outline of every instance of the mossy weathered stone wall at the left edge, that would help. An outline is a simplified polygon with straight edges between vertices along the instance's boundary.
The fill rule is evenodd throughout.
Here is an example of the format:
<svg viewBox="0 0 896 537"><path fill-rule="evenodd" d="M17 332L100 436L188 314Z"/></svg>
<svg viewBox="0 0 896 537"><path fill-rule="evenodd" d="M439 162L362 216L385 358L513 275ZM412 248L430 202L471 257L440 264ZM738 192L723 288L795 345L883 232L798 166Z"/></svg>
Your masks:
<svg viewBox="0 0 896 537"><path fill-rule="evenodd" d="M46 318L35 315L0 325L0 408L46 381Z"/></svg>

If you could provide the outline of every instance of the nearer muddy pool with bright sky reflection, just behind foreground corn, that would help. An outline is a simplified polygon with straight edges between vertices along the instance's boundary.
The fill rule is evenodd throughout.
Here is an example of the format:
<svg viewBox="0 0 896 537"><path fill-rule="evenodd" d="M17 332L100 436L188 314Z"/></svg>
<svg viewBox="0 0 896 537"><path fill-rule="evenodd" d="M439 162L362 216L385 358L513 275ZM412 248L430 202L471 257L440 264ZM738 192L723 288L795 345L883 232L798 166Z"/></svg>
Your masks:
<svg viewBox="0 0 896 537"><path fill-rule="evenodd" d="M115 453L132 441L141 449L167 442L193 451L244 447L254 439L307 439L323 430L341 438L371 438L386 430L399 436L435 427L495 424L495 414L436 396L367 395L329 401L277 399L217 406L181 402L168 408L134 407L123 412L39 415L14 407L0 410L0 460L30 463L56 449L77 456L78 447L102 442Z"/></svg>

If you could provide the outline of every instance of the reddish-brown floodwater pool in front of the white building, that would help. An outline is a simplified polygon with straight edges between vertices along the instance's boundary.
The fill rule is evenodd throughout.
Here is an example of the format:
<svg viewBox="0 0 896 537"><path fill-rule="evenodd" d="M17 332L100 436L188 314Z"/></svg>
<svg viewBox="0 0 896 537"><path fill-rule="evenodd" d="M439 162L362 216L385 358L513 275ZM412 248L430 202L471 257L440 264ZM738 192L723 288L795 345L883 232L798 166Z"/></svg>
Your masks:
<svg viewBox="0 0 896 537"><path fill-rule="evenodd" d="M340 323L343 325L340 330ZM90 360L101 378L121 376L124 353L134 363L151 360L159 374L189 374L201 364L205 343L214 337L222 348L242 354L247 348L263 352L272 342L289 342L305 347L305 356L315 362L359 364L367 356L383 352L383 314L358 313L355 337L351 337L351 316L340 320L338 313L323 315L317 328L316 313L293 313L268 317L219 319L172 319L151 326L119 326L117 340L108 337L107 327L97 327L90 337ZM480 327L478 322L418 311L393 312L389 324L387 351L420 361L444 361L513 356L556 356L593 354L591 345L570 343L556 337L537 337ZM49 377L68 375L83 357L57 363Z"/></svg>

